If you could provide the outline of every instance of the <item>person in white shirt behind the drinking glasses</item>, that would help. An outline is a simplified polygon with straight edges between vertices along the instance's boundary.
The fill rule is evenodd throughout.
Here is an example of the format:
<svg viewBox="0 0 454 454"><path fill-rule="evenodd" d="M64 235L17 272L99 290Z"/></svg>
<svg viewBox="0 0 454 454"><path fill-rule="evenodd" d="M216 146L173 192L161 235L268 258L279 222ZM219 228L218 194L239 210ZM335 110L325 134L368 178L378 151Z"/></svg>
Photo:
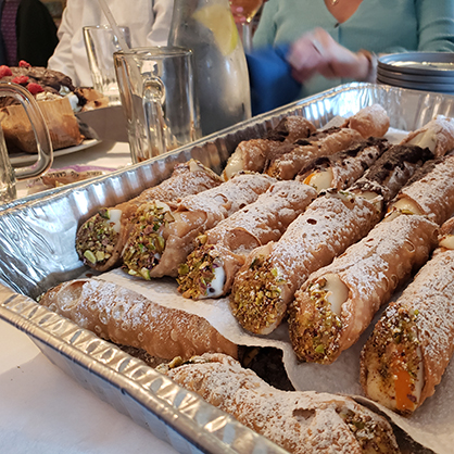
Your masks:
<svg viewBox="0 0 454 454"><path fill-rule="evenodd" d="M129 27L133 47L167 45L173 0L108 0L108 4L117 24ZM67 0L58 31L60 42L48 67L70 76L75 86L92 86L83 27L106 24L97 0Z"/></svg>

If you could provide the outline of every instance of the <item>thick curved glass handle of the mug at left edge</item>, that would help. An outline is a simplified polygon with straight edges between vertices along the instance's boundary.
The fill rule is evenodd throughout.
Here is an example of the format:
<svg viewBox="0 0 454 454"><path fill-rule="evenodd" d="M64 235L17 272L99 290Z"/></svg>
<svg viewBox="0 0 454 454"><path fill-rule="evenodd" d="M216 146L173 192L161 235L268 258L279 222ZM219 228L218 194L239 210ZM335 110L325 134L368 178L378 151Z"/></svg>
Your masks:
<svg viewBox="0 0 454 454"><path fill-rule="evenodd" d="M50 168L53 161L53 149L49 129L38 106L38 102L26 88L13 83L2 84L0 96L11 96L21 102L31 123L31 128L35 134L36 144L38 148L38 160L35 164L16 168L14 171L15 177L17 180L38 177Z"/></svg>

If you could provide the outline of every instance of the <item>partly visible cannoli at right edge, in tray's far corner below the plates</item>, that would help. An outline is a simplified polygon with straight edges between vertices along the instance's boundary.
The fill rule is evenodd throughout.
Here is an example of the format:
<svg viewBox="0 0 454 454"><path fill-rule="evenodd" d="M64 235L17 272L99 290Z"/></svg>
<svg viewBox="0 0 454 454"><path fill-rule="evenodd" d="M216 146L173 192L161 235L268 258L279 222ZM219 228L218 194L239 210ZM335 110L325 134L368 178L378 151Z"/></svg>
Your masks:
<svg viewBox="0 0 454 454"><path fill-rule="evenodd" d="M402 144L427 147L436 156L454 149L454 118L438 115L425 126L408 134Z"/></svg>

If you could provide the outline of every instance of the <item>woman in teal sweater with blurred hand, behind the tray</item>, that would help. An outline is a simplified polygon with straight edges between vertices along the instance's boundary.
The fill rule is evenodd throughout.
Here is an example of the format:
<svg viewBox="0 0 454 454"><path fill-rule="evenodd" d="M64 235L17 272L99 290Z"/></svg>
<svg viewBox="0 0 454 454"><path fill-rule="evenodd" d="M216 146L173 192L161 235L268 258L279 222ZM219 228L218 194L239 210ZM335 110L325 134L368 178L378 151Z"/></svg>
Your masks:
<svg viewBox="0 0 454 454"><path fill-rule="evenodd" d="M295 98L305 98L353 80L375 81L380 53L454 52L454 0L268 0L253 46L285 49L301 84Z"/></svg>

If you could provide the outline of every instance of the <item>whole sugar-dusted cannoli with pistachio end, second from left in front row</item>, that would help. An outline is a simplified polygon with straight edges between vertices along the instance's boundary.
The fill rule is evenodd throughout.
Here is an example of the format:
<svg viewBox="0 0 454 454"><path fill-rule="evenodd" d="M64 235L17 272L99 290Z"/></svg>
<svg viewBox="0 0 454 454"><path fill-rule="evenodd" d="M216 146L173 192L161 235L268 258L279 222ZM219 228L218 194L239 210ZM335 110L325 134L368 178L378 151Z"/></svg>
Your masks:
<svg viewBox="0 0 454 454"><path fill-rule="evenodd" d="M220 186L185 197L175 209L161 201L143 203L130 219L123 268L147 280L177 277L200 234L255 202L273 182L267 175L237 174Z"/></svg>

